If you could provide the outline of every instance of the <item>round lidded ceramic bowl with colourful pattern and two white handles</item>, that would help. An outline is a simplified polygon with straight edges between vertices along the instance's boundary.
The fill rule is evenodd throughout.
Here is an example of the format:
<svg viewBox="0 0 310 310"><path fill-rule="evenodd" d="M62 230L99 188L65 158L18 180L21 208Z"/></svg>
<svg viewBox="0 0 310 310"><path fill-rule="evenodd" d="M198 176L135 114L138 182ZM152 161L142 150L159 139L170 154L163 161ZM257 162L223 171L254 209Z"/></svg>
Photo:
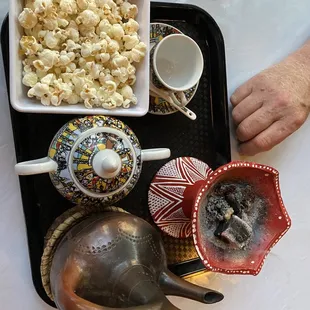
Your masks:
<svg viewBox="0 0 310 310"><path fill-rule="evenodd" d="M169 149L142 150L122 121L87 116L65 124L54 137L48 157L18 163L19 175L49 173L57 190L75 204L111 205L136 185L143 161L170 157Z"/></svg>

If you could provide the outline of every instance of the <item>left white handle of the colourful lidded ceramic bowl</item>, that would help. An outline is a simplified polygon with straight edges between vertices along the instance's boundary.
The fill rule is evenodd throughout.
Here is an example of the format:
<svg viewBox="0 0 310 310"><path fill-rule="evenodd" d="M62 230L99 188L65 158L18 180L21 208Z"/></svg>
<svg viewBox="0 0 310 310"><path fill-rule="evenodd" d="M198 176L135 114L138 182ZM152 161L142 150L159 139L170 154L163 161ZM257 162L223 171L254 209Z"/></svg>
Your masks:
<svg viewBox="0 0 310 310"><path fill-rule="evenodd" d="M49 157L45 157L16 164L15 172L18 175L34 175L56 171L57 167L55 161Z"/></svg>

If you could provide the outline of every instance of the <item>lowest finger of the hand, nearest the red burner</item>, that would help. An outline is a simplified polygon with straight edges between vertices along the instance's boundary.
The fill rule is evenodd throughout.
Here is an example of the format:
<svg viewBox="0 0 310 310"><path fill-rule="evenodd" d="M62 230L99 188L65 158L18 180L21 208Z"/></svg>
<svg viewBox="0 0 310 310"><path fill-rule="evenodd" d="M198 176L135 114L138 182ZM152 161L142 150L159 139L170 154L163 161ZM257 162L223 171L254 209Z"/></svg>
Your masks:
<svg viewBox="0 0 310 310"><path fill-rule="evenodd" d="M285 119L281 119L273 123L252 140L242 143L239 148L240 154L254 156L258 153L271 150L292 133L286 122Z"/></svg>

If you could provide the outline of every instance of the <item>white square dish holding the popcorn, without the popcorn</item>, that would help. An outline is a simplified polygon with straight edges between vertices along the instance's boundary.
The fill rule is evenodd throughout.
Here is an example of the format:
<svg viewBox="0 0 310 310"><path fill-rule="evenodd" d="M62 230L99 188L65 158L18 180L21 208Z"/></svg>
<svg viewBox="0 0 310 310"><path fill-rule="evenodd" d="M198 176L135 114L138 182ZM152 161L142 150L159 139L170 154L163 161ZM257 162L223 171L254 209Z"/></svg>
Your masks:
<svg viewBox="0 0 310 310"><path fill-rule="evenodd" d="M118 108L106 110L103 108L87 109L84 104L63 104L61 106L43 106L40 101L28 98L28 87L22 84L23 64L19 55L19 41L23 35L23 29L19 25L18 16L24 8L24 0L10 0L10 101L13 108L25 113L47 114L84 114L84 115L111 115L111 116L144 116L149 110L149 50L150 50L150 0L130 0L139 8L137 21L140 24L139 35L148 48L148 53L137 67L137 82L134 93L138 104L129 109Z"/></svg>

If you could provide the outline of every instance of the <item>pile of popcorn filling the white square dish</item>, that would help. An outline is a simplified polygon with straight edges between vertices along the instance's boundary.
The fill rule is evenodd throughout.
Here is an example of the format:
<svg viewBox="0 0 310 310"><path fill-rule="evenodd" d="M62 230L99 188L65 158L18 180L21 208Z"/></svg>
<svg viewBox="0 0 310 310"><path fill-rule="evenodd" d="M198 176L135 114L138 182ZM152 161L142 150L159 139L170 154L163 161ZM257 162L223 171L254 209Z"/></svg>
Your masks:
<svg viewBox="0 0 310 310"><path fill-rule="evenodd" d="M26 0L19 15L23 79L42 105L137 104L134 63L146 56L136 5L127 0Z"/></svg>

